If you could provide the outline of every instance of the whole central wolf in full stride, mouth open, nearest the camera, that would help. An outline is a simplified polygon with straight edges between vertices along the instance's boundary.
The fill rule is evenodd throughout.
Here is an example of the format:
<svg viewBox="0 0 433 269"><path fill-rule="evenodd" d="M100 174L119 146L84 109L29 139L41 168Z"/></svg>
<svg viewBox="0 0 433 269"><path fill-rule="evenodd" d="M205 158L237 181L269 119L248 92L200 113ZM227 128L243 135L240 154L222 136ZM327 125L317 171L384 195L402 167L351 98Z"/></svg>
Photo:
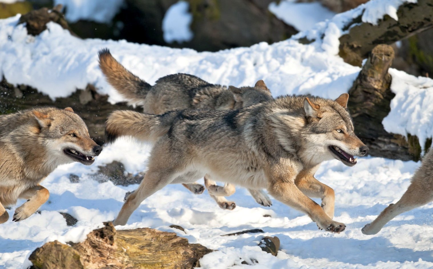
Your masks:
<svg viewBox="0 0 433 269"><path fill-rule="evenodd" d="M236 110L113 112L107 119L107 141L131 136L154 144L149 169L114 225L125 225L144 199L167 184L191 183L208 174L249 189L267 189L306 213L320 229L343 231L346 225L333 221L334 191L314 173L324 160L354 166L354 156L368 152L355 135L348 98L347 93L335 100L281 96ZM308 197L321 198L321 205Z"/></svg>

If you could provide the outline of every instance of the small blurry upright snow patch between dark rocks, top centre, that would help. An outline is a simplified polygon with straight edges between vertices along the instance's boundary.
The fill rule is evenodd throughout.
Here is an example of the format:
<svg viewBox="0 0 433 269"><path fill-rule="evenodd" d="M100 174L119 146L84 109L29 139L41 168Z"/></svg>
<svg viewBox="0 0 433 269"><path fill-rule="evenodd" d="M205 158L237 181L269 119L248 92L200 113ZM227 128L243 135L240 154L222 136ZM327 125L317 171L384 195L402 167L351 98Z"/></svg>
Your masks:
<svg viewBox="0 0 433 269"><path fill-rule="evenodd" d="M189 3L178 1L171 5L162 19L162 31L167 43L190 41L194 34L189 28L192 15L188 13Z"/></svg>

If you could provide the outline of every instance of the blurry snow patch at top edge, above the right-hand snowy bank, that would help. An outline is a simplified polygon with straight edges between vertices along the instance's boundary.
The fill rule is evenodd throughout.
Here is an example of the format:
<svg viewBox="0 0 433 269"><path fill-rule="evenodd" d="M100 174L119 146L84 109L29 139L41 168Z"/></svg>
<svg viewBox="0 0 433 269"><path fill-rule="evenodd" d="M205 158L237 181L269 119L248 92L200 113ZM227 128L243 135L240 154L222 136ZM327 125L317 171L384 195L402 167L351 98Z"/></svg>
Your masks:
<svg viewBox="0 0 433 269"><path fill-rule="evenodd" d="M298 31L308 30L317 22L331 19L335 15L318 2L297 3L296 0L283 0L279 3L270 3L268 8L278 19Z"/></svg>

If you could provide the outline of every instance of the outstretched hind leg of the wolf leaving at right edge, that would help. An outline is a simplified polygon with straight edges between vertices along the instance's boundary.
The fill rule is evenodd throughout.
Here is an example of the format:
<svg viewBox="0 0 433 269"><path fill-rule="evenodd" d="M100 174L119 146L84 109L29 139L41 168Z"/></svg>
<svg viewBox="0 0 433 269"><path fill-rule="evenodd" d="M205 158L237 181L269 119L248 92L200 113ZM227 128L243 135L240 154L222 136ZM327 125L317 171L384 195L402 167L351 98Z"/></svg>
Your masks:
<svg viewBox="0 0 433 269"><path fill-rule="evenodd" d="M414 180L398 202L385 208L372 223L365 225L361 231L367 235L377 234L388 221L397 215L425 205L432 200L433 192L426 186L426 182Z"/></svg>

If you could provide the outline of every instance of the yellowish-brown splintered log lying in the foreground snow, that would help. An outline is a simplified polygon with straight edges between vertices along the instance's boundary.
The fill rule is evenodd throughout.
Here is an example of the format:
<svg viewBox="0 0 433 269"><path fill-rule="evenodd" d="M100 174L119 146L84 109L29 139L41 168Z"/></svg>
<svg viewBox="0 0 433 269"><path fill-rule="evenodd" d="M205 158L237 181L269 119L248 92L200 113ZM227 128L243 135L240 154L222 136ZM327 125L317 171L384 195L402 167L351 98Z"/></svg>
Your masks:
<svg viewBox="0 0 433 269"><path fill-rule="evenodd" d="M175 233L150 228L116 231L111 222L90 232L84 242L70 245L45 243L29 260L34 269L192 269L200 266L201 257L212 252Z"/></svg>

